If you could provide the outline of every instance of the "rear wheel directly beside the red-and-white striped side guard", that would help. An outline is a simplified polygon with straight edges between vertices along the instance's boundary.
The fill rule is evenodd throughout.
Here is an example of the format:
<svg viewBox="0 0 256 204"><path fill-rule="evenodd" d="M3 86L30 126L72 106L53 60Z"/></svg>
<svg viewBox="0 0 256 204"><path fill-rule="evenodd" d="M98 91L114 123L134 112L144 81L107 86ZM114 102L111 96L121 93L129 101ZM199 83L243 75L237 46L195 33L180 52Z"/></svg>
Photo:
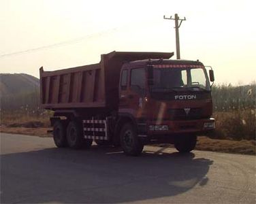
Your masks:
<svg viewBox="0 0 256 204"><path fill-rule="evenodd" d="M78 150L81 148L90 148L93 140L84 139L82 124L77 121L69 122L67 126L67 144L69 148Z"/></svg>

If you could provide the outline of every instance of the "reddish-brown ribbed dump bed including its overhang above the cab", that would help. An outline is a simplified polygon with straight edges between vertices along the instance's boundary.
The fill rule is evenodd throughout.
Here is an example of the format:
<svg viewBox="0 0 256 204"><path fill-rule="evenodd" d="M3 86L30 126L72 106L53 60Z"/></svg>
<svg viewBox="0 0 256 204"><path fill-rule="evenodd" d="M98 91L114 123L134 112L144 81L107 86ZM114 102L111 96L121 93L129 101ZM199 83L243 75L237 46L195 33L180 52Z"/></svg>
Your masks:
<svg viewBox="0 0 256 204"><path fill-rule="evenodd" d="M41 104L46 109L118 105L118 83L123 63L146 58L170 58L167 52L110 52L101 61L57 71L40 68Z"/></svg>

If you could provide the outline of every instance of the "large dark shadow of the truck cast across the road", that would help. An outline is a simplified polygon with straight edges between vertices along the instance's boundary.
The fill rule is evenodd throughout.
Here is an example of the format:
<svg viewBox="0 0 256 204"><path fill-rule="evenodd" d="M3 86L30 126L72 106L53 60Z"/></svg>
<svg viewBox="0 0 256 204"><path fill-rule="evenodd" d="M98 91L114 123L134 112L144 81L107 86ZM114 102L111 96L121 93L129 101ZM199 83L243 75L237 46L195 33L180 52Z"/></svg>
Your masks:
<svg viewBox="0 0 256 204"><path fill-rule="evenodd" d="M204 186L213 161L195 154L46 148L1 155L1 203L122 203ZM161 200L156 201L157 203Z"/></svg>

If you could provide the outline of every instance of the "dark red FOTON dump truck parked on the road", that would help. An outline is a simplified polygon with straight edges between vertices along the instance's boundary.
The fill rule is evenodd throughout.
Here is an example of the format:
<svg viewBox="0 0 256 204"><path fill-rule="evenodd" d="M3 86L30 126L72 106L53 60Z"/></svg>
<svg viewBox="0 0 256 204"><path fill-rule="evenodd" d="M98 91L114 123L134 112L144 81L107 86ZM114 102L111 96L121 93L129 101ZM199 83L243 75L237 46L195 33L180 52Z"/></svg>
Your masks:
<svg viewBox="0 0 256 204"><path fill-rule="evenodd" d="M97 64L44 71L40 97L59 148L121 146L138 156L144 145L195 148L215 128L209 72L203 63L170 59L174 52L110 52ZM210 79L210 80L209 80Z"/></svg>

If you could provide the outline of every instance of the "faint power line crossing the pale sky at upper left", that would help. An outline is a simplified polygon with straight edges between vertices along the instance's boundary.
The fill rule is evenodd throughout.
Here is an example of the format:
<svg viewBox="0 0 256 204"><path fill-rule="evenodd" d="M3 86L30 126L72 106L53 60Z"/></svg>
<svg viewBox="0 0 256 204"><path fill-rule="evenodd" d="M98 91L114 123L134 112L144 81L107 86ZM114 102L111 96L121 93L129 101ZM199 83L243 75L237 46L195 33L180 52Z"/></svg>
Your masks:
<svg viewBox="0 0 256 204"><path fill-rule="evenodd" d="M70 40L67 40L67 41L61 41L59 43L50 44L48 46L41 46L41 47L38 47L38 48L30 48L30 49L27 49L27 50L21 50L21 51L18 51L18 52L10 52L10 53L7 53L7 54L1 54L0 58L1 57L5 57L5 56L12 56L12 55L17 55L17 54L25 54L25 53L29 53L29 52L36 52L36 51L45 50L45 49L48 49L48 48L54 48L54 47L59 47L59 46L66 46L66 45L69 45L69 44L76 44L79 41L82 41L84 39L89 39L91 37L101 36L101 35L106 34L106 33L112 33L112 32L114 32L116 30L117 30L117 28L114 28L114 29L110 29L108 31L102 31L102 32L99 32L99 33L91 34L91 35L86 35L84 37L78 37L78 38L70 39Z"/></svg>

